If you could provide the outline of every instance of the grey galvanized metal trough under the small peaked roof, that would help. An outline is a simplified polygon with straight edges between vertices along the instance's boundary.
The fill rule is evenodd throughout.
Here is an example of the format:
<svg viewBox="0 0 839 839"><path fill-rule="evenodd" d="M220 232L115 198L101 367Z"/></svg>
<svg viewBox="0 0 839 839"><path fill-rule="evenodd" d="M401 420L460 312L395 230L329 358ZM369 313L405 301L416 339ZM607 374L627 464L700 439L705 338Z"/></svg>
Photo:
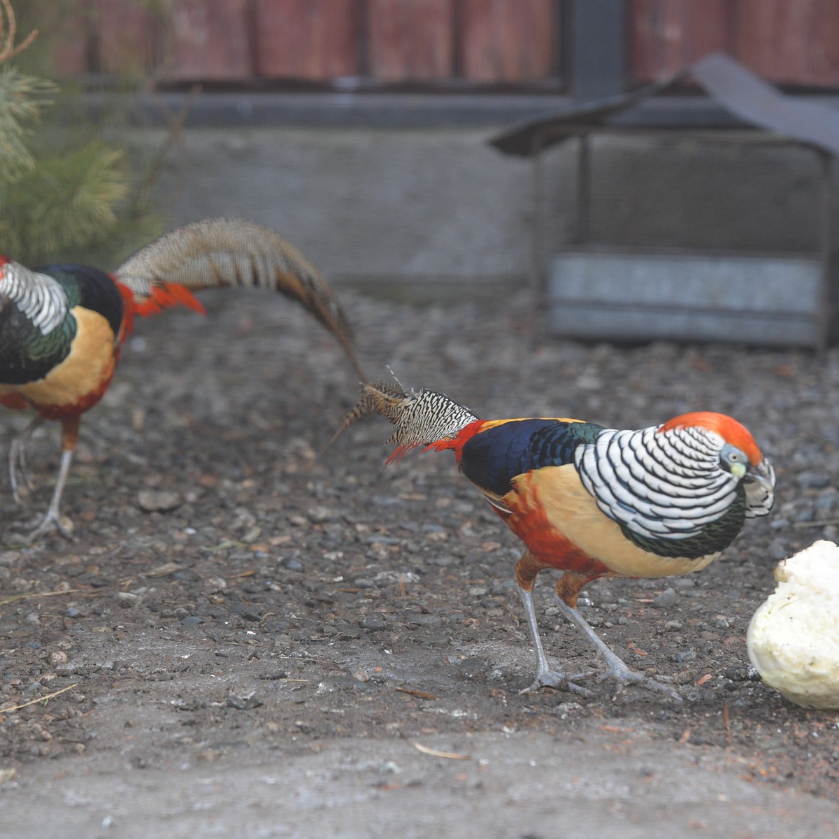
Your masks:
<svg viewBox="0 0 839 839"><path fill-rule="evenodd" d="M821 262L806 256L579 248L550 262L550 327L614 341L815 347Z"/></svg>

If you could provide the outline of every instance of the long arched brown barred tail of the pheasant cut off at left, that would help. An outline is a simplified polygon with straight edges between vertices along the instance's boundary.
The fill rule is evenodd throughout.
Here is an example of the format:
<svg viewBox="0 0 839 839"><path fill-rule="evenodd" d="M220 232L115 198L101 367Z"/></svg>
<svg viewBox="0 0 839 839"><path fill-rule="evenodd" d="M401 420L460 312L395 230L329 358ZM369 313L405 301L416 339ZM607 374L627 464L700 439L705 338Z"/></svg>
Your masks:
<svg viewBox="0 0 839 839"><path fill-rule="evenodd" d="M294 245L254 221L207 218L177 227L135 253L117 268L116 277L138 300L139 314L172 305L166 296L179 287L187 292L227 285L279 291L331 331L362 381L367 380L352 330L326 280Z"/></svg>

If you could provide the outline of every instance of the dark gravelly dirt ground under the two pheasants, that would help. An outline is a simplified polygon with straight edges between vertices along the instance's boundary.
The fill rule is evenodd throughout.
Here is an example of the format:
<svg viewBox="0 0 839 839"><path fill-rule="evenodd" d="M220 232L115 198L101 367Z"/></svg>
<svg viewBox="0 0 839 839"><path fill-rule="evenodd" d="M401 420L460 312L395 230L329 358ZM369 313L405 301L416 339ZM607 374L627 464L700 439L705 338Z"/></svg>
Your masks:
<svg viewBox="0 0 839 839"><path fill-rule="evenodd" d="M485 416L707 408L753 430L771 519L696 576L586 592L683 701L593 678L591 698L520 695L517 540L449 456L383 470L383 420L321 454L357 395L330 336L274 296L211 294L206 319L139 323L86 415L72 539L16 535L49 499L55 428L29 507L0 496L3 836L836 835L839 714L761 684L744 636L776 562L839 540L839 352L532 348L524 300L342 299L374 378ZM536 591L549 656L586 669L549 574Z"/></svg>

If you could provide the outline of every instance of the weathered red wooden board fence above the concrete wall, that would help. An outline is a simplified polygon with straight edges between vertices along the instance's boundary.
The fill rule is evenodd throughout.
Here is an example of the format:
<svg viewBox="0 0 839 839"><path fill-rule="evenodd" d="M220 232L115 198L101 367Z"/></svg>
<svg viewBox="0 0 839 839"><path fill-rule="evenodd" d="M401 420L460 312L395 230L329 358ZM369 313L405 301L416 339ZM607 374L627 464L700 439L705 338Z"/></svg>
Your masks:
<svg viewBox="0 0 839 839"><path fill-rule="evenodd" d="M577 0L595 3L597 0ZM562 0L78 0L65 74L561 90ZM627 86L723 50L770 81L839 86L839 0L627 0ZM571 16L572 18L572 16ZM569 68L573 74L573 68Z"/></svg>

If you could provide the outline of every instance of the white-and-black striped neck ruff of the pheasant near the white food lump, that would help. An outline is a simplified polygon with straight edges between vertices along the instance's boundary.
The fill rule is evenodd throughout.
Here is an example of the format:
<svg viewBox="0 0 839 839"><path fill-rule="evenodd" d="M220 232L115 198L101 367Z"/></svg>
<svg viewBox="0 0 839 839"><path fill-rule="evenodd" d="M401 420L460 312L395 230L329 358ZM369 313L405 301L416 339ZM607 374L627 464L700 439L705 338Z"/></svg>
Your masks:
<svg viewBox="0 0 839 839"><path fill-rule="evenodd" d="M659 427L604 430L576 450L576 466L602 512L633 534L691 539L728 513L740 481L720 467L721 435Z"/></svg>

